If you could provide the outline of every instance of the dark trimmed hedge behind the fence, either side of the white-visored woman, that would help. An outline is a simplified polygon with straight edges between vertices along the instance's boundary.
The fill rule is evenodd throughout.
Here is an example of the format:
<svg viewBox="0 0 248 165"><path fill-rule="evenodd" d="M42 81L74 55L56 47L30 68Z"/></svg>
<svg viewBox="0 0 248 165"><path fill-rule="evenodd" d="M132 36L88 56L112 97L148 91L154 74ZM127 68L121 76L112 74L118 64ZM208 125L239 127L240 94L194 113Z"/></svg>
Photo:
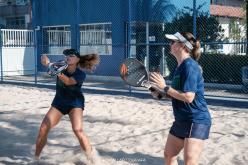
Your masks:
<svg viewBox="0 0 248 165"><path fill-rule="evenodd" d="M167 79L171 79L177 62L172 55L167 56L166 62L171 73ZM248 56L203 54L199 64L205 83L242 84L241 68L248 66Z"/></svg>

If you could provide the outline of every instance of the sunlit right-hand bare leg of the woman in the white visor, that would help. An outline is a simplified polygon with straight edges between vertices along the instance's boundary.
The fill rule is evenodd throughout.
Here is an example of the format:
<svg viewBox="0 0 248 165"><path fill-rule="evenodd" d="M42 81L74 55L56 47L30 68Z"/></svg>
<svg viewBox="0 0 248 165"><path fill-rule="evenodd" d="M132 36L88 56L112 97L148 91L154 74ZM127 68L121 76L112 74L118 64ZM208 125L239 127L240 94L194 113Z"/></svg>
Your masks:
<svg viewBox="0 0 248 165"><path fill-rule="evenodd" d="M204 141L195 138L187 138L184 142L185 165L197 165L203 150Z"/></svg>

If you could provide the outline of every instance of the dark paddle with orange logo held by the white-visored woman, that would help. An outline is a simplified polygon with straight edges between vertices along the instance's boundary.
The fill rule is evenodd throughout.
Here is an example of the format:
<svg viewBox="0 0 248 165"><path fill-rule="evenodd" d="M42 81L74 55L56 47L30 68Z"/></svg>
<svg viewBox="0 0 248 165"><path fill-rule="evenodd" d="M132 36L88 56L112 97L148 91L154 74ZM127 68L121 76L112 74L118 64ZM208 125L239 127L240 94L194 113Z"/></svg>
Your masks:
<svg viewBox="0 0 248 165"><path fill-rule="evenodd" d="M156 90L149 81L149 73L145 66L137 59L125 59L120 65L120 75L124 82L130 86L145 87L152 92ZM160 92L158 98L161 99L163 96L164 94Z"/></svg>

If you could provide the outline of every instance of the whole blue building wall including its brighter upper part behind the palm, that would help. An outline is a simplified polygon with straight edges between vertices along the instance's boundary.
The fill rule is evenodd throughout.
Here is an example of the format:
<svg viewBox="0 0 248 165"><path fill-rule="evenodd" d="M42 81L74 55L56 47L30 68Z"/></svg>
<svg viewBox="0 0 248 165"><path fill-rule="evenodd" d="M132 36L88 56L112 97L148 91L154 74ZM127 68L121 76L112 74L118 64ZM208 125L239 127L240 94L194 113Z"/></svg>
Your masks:
<svg viewBox="0 0 248 165"><path fill-rule="evenodd" d="M170 21L176 11L185 5L193 8L193 0L33 0L33 26L70 25L73 48L79 48L79 24L112 23L112 55L102 55L96 74L119 75L119 64L127 56L127 32L125 22L131 21ZM203 10L209 9L209 0L197 0L197 5L204 2ZM157 2L160 3L156 7ZM200 3L202 2L202 3ZM168 7L168 4L170 6ZM182 5L180 5L182 4ZM167 8L166 8L167 5ZM155 6L155 7L154 7ZM160 17L156 14L160 13ZM161 17L162 13L162 17ZM38 60L41 53L41 31L36 31ZM38 70L41 70L38 61Z"/></svg>

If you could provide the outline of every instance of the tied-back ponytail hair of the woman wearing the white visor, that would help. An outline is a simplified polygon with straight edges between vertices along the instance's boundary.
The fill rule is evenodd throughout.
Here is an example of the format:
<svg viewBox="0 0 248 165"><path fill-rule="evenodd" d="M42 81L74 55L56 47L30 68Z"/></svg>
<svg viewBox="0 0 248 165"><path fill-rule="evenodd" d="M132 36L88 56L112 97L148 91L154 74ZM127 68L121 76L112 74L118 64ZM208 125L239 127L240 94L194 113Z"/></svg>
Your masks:
<svg viewBox="0 0 248 165"><path fill-rule="evenodd" d="M190 53L191 57L198 61L201 57L201 44L199 39L195 39L194 35L189 33L189 32L182 32L181 33L193 46L193 49L190 51L189 49L188 52Z"/></svg>

